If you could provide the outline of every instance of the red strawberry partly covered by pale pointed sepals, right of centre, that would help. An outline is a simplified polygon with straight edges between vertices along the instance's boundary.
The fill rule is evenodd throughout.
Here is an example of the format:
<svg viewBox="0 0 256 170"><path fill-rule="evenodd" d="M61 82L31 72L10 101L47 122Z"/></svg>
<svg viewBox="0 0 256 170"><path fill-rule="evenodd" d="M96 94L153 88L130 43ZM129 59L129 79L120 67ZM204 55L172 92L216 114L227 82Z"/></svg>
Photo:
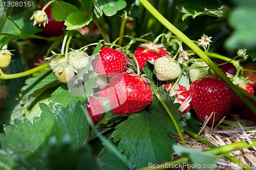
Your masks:
<svg viewBox="0 0 256 170"><path fill-rule="evenodd" d="M173 86L174 84L170 83L170 84L164 85L163 88L166 88L167 90L171 90ZM170 96L174 96L174 95L176 95L176 99L174 103L181 104L181 107L179 108L179 110L183 112L183 116L185 116L190 108L190 102L191 102L191 98L189 97L189 93L187 89L184 86L178 84L176 88L170 93Z"/></svg>

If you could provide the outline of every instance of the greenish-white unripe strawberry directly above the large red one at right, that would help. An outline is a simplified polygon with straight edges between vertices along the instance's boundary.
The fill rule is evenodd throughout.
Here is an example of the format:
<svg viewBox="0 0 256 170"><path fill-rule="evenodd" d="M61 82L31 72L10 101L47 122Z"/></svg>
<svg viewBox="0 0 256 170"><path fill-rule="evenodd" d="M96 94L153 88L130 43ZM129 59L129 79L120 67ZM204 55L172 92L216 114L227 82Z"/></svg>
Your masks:
<svg viewBox="0 0 256 170"><path fill-rule="evenodd" d="M202 79L208 75L208 65L203 61L198 61L191 64L188 68L189 79L191 82Z"/></svg>

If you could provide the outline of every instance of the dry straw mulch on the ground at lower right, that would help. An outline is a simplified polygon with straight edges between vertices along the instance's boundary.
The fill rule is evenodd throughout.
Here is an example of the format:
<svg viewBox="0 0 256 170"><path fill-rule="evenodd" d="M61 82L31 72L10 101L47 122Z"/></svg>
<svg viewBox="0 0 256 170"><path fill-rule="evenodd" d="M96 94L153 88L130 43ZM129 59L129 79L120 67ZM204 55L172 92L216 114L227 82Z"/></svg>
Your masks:
<svg viewBox="0 0 256 170"><path fill-rule="evenodd" d="M202 128L200 135L215 144L217 147L233 142L255 140L256 137L256 127L255 122L250 120L242 119L238 114L232 114L226 119L232 120L233 122L238 123L238 126L228 126L230 129L221 129L219 127L208 127L205 126ZM241 126L240 126L241 125ZM226 126L226 125L225 125ZM242 127L243 126L243 127ZM246 127L244 127L246 126ZM193 148L194 150L204 151L210 149L206 144L196 140L195 138L183 134L183 137L186 141L187 147ZM177 135L176 141L178 144L181 144L181 140ZM230 153L231 156L237 158L244 164L249 165L252 169L256 169L256 148L243 149ZM175 159L179 158L179 155L174 155ZM187 167L182 167L180 169L189 169ZM227 158L221 158L216 165L216 169L242 169L239 165L231 162Z"/></svg>

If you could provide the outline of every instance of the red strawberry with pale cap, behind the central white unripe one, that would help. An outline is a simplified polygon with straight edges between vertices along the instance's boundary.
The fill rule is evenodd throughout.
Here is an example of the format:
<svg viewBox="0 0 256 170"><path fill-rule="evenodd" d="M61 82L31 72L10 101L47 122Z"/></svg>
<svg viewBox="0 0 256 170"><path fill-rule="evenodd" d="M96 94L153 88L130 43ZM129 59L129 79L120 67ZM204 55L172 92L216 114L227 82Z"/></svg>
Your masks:
<svg viewBox="0 0 256 170"><path fill-rule="evenodd" d="M141 44L137 48L137 50L134 52L134 56L136 57L141 70L146 63L146 60L156 61L160 57L169 55L168 52L166 50L163 50L162 47L163 45L153 45L152 42L147 42Z"/></svg>

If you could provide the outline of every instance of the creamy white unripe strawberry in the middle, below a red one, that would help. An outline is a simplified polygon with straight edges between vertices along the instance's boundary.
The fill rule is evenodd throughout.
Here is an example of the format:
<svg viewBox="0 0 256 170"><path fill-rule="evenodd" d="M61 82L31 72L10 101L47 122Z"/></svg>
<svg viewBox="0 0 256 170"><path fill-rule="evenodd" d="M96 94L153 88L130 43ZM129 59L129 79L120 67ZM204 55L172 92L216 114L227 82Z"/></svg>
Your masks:
<svg viewBox="0 0 256 170"><path fill-rule="evenodd" d="M155 61L154 73L158 80L173 80L181 74L180 64L169 57L161 57Z"/></svg>

